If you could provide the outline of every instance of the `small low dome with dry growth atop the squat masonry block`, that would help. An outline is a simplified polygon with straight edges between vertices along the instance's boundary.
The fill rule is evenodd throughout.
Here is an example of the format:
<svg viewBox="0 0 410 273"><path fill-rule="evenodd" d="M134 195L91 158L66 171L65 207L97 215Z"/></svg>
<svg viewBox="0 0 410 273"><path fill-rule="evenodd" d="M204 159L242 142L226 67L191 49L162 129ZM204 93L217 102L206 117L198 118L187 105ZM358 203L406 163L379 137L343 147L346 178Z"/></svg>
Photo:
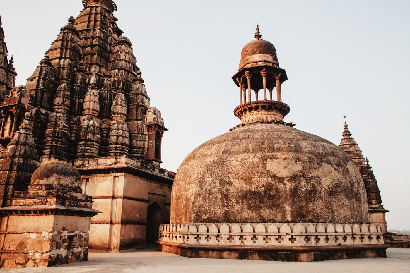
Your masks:
<svg viewBox="0 0 410 273"><path fill-rule="evenodd" d="M34 171L31 185L80 187L81 175L73 166L58 163L45 164Z"/></svg>

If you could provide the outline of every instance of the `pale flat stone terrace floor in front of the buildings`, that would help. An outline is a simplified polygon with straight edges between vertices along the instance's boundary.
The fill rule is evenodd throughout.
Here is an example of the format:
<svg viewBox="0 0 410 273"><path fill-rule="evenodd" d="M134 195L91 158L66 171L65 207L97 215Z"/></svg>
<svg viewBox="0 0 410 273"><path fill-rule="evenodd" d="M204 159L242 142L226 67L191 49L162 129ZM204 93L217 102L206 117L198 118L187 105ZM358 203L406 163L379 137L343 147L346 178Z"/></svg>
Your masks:
<svg viewBox="0 0 410 273"><path fill-rule="evenodd" d="M387 258L324 262L189 259L149 248L128 253L89 253L88 262L49 268L1 269L0 272L410 272L410 248L389 248Z"/></svg>

